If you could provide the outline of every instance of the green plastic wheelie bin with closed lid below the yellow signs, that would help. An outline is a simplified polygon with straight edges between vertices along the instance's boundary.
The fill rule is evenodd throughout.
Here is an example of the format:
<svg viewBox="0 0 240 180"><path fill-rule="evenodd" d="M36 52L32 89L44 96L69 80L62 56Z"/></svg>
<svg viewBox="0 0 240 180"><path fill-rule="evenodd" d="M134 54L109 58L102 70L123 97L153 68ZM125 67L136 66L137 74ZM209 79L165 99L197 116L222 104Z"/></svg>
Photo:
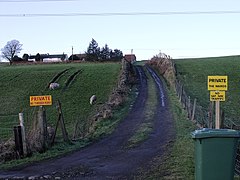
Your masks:
<svg viewBox="0 0 240 180"><path fill-rule="evenodd" d="M195 145L195 180L232 180L240 132L204 128L191 135Z"/></svg>

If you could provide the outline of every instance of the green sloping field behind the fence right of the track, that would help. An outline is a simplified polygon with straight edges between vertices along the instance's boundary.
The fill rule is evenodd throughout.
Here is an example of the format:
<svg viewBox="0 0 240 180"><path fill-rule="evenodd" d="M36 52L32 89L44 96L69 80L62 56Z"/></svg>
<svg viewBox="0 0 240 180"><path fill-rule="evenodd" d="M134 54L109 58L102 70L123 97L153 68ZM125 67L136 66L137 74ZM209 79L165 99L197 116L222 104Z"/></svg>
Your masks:
<svg viewBox="0 0 240 180"><path fill-rule="evenodd" d="M198 103L206 109L210 103L207 89L208 76L228 76L226 101L220 104L225 116L236 124L240 124L240 56L176 59L174 61L178 77L183 83L187 94L192 98L197 98Z"/></svg>

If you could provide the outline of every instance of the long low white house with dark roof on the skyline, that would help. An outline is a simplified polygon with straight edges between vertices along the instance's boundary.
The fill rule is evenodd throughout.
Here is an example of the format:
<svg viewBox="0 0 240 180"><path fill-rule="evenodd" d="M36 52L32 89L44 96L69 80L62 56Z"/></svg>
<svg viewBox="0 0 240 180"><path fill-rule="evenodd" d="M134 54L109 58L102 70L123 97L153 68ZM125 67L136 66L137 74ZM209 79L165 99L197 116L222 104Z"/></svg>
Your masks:
<svg viewBox="0 0 240 180"><path fill-rule="evenodd" d="M67 54L37 54L30 55L28 61L42 61L42 62L60 62L68 60Z"/></svg>

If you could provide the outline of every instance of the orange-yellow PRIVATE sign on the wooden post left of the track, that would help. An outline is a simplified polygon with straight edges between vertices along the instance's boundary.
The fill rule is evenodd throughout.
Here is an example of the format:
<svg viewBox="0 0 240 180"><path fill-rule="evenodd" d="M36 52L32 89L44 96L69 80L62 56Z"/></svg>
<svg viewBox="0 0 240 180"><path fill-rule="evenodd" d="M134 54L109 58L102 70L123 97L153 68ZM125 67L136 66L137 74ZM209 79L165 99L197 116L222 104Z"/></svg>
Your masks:
<svg viewBox="0 0 240 180"><path fill-rule="evenodd" d="M51 106L52 96L30 96L30 106Z"/></svg>

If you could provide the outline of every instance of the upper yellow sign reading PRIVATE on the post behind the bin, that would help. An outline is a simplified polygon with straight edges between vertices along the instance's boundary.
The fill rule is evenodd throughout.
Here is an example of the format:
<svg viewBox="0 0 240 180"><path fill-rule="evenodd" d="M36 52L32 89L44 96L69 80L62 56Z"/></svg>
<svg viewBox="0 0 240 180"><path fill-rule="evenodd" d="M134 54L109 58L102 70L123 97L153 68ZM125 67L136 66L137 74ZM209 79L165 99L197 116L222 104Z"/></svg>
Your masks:
<svg viewBox="0 0 240 180"><path fill-rule="evenodd" d="M227 76L208 76L209 91L227 91L228 77Z"/></svg>

